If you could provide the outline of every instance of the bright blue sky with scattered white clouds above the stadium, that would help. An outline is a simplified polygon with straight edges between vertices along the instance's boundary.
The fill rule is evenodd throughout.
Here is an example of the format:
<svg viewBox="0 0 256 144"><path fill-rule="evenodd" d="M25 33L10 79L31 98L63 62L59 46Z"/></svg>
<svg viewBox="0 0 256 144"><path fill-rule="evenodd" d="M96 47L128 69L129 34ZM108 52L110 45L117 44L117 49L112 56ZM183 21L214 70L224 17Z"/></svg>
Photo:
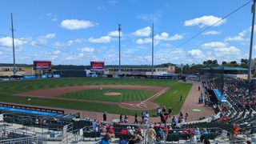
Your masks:
<svg viewBox="0 0 256 144"><path fill-rule="evenodd" d="M247 0L2 0L0 63L13 62L10 13L18 63L51 60L54 64L118 64L118 23L122 24L122 65L154 62L202 63L207 59L247 58L250 44L249 5L181 47L194 34L217 22ZM255 55L254 46L254 55Z"/></svg>

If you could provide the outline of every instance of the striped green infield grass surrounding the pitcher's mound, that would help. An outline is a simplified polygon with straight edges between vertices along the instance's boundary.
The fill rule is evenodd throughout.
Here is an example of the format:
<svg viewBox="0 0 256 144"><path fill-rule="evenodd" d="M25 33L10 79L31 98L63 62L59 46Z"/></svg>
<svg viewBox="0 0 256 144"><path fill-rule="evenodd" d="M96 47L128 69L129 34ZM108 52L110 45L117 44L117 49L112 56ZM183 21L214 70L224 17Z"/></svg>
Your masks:
<svg viewBox="0 0 256 144"><path fill-rule="evenodd" d="M106 93L120 93L121 95L106 95ZM110 89L104 88L82 90L75 93L67 93L61 96L61 98L70 99L86 99L94 101L104 101L104 102L132 102L132 101L143 101L146 98L150 98L154 95L154 91L150 90L127 90L127 89Z"/></svg>

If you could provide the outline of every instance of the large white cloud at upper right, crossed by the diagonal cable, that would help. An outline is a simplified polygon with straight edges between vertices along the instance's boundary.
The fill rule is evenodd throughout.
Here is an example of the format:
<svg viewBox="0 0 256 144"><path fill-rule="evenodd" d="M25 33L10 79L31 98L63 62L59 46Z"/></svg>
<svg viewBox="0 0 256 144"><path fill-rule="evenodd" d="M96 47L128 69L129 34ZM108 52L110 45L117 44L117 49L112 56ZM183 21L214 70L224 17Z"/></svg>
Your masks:
<svg viewBox="0 0 256 144"><path fill-rule="evenodd" d="M204 16L199 17L199 18L194 18L194 19L186 20L184 22L184 26L198 26L198 25L200 27L212 26L215 22L218 22L221 19L222 18L218 18L218 17L215 17L213 15L208 15L208 16L204 15ZM225 22L226 22L226 19L222 20L221 22L218 22L214 26L220 26L220 25L222 25Z"/></svg>

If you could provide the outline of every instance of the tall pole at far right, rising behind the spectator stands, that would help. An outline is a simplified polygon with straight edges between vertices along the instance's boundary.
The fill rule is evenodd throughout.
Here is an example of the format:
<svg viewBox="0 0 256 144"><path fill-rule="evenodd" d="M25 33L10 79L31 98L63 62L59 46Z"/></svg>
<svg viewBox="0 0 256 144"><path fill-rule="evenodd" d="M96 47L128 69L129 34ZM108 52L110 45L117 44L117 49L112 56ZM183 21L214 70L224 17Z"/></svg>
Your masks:
<svg viewBox="0 0 256 144"><path fill-rule="evenodd" d="M253 45L254 45L255 2L256 2L256 0L254 0L254 4L251 6L251 13L253 13L253 22L252 22L251 33L250 33L250 54L249 54L249 62L248 62L249 63L248 64L248 76L247 76L248 82L251 81L251 56L252 56Z"/></svg>

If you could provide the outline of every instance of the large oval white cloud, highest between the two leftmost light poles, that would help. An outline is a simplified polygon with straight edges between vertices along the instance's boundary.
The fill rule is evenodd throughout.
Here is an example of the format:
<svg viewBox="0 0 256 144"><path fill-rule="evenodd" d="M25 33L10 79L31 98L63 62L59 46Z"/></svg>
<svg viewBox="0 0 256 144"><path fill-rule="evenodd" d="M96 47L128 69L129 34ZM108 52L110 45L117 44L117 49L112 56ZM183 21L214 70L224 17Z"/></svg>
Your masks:
<svg viewBox="0 0 256 144"><path fill-rule="evenodd" d="M67 30L80 30L87 29L89 27L93 27L98 25L97 23L86 21L86 20L78 20L78 19L65 19L62 20L61 26Z"/></svg>

